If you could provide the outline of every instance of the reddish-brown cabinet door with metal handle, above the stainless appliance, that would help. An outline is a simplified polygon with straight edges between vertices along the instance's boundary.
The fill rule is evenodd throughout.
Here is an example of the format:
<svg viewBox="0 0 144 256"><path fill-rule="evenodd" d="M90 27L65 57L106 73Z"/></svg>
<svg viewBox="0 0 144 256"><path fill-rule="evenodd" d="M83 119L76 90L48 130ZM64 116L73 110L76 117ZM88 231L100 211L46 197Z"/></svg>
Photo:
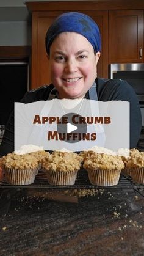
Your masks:
<svg viewBox="0 0 144 256"><path fill-rule="evenodd" d="M109 64L143 60L143 10L110 10Z"/></svg>

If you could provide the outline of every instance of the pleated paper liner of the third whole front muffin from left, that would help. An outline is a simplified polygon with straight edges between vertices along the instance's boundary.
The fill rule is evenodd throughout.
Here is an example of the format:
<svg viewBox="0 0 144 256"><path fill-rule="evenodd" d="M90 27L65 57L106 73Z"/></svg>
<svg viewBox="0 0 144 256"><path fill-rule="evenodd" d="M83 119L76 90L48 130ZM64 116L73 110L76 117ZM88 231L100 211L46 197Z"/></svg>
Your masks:
<svg viewBox="0 0 144 256"><path fill-rule="evenodd" d="M118 184L121 170L87 170L92 185L115 186Z"/></svg>

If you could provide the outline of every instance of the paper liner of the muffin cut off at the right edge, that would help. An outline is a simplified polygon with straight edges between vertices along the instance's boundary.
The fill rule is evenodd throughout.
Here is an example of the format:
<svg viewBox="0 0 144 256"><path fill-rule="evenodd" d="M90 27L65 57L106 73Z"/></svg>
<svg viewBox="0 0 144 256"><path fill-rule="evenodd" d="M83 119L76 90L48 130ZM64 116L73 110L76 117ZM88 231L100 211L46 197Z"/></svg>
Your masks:
<svg viewBox="0 0 144 256"><path fill-rule="evenodd" d="M132 167L131 176L136 183L144 184L144 167Z"/></svg>

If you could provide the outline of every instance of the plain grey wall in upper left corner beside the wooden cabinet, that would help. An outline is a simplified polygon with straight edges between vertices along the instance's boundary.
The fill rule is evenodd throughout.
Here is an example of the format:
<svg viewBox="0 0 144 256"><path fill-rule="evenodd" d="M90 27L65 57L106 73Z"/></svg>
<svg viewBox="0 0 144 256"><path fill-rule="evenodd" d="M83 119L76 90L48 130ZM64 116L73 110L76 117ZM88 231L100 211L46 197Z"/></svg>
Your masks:
<svg viewBox="0 0 144 256"><path fill-rule="evenodd" d="M28 0L46 1L46 0ZM56 1L56 0L51 0ZM61 0L57 0L61 1ZM68 0L63 0L68 1ZM74 0L77 1L77 0ZM84 1L84 0L80 0ZM90 0L89 0L90 1ZM97 0L98 1L98 0ZM101 1L101 0L99 0ZM107 0L109 1L109 0ZM0 46L31 45L31 24L25 0L0 0ZM21 13L21 15L20 15Z"/></svg>

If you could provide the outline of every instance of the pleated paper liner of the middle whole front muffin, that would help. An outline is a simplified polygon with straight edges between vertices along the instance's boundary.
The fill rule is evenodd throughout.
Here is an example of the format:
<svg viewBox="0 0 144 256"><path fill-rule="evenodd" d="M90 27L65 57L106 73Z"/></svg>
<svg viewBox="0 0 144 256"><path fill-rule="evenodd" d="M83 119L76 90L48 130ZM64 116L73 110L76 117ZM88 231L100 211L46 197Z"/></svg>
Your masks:
<svg viewBox="0 0 144 256"><path fill-rule="evenodd" d="M54 170L46 170L46 175L50 185L72 186L76 181L78 170L62 172Z"/></svg>

